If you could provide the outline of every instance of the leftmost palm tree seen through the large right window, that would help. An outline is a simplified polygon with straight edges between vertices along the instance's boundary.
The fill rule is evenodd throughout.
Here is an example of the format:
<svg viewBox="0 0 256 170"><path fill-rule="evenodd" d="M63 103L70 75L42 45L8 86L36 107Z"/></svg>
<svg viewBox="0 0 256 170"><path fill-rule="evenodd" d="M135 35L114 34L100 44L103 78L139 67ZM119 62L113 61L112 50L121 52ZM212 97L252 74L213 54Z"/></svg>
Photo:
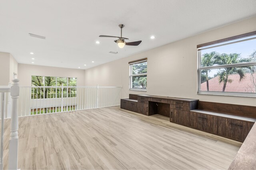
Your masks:
<svg viewBox="0 0 256 170"><path fill-rule="evenodd" d="M210 53L205 53L202 55L202 61L201 61L201 66L212 66L214 65L214 57L218 55L216 51L212 51ZM209 78L208 78L208 72L211 70L202 70L202 73L206 74L206 87L207 91L209 91Z"/></svg>

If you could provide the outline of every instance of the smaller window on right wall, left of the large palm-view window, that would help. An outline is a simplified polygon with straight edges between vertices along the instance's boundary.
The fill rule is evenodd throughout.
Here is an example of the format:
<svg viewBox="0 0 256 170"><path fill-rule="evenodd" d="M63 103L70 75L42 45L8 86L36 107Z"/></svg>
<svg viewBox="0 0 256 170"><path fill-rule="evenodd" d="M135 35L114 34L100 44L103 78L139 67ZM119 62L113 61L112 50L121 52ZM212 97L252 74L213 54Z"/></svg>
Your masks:
<svg viewBox="0 0 256 170"><path fill-rule="evenodd" d="M129 62L130 90L147 90L147 58Z"/></svg>

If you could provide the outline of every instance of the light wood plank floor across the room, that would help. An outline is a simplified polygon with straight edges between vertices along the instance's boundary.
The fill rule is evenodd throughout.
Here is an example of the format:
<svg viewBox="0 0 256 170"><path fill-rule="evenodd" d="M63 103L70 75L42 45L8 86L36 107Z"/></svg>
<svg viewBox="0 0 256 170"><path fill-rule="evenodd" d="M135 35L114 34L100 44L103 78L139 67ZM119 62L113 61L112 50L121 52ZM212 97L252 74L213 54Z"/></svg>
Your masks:
<svg viewBox="0 0 256 170"><path fill-rule="evenodd" d="M20 169L227 169L242 144L120 107L21 117L18 132Z"/></svg>

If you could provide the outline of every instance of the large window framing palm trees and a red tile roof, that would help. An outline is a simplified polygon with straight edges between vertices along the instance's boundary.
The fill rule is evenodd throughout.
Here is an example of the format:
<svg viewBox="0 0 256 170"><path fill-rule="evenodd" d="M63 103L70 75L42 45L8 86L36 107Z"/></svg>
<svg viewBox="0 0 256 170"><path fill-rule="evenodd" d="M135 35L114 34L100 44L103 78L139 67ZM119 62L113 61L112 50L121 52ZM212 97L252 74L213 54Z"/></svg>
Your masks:
<svg viewBox="0 0 256 170"><path fill-rule="evenodd" d="M197 48L198 94L256 97L256 31Z"/></svg>

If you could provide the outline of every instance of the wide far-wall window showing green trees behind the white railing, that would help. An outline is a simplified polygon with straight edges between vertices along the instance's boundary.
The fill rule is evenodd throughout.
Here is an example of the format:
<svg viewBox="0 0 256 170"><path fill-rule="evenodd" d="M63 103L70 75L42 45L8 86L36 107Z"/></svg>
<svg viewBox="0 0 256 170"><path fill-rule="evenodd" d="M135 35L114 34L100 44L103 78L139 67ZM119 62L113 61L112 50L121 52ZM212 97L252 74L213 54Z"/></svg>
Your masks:
<svg viewBox="0 0 256 170"><path fill-rule="evenodd" d="M76 80L70 77L32 76L32 86L40 87L31 88L31 99L61 98L62 84L65 86L64 98L76 97Z"/></svg>

